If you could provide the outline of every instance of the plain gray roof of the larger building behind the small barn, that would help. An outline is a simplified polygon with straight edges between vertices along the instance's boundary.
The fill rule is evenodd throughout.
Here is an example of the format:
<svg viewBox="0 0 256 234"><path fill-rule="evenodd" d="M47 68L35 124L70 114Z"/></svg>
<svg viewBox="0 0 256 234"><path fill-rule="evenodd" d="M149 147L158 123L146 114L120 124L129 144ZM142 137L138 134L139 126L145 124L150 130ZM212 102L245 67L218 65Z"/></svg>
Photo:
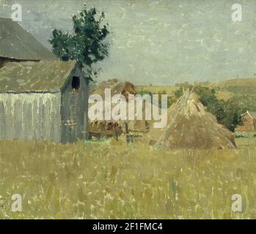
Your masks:
<svg viewBox="0 0 256 234"><path fill-rule="evenodd" d="M53 60L54 54L37 42L17 22L0 17L0 57L20 60Z"/></svg>

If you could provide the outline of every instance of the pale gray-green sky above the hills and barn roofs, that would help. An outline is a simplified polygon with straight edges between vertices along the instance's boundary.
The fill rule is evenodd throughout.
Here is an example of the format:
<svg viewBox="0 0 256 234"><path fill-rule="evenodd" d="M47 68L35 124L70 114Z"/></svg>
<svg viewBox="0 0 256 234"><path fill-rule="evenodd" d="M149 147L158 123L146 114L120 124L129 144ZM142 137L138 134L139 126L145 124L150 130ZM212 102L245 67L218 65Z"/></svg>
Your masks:
<svg viewBox="0 0 256 234"><path fill-rule="evenodd" d="M84 2L106 13L109 58L98 64L98 80L136 84L249 78L256 73L256 1L230 0L0 0L0 16L10 18L21 4L21 26L50 48L52 29L71 29L71 15ZM233 22L232 5L242 6Z"/></svg>

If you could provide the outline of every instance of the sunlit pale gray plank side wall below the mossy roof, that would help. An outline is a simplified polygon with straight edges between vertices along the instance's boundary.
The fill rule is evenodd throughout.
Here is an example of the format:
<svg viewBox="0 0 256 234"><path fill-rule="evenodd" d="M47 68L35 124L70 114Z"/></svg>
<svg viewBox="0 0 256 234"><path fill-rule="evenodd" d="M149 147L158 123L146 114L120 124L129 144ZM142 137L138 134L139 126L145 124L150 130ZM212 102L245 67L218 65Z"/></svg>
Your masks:
<svg viewBox="0 0 256 234"><path fill-rule="evenodd" d="M61 93L0 94L0 139L61 141Z"/></svg>

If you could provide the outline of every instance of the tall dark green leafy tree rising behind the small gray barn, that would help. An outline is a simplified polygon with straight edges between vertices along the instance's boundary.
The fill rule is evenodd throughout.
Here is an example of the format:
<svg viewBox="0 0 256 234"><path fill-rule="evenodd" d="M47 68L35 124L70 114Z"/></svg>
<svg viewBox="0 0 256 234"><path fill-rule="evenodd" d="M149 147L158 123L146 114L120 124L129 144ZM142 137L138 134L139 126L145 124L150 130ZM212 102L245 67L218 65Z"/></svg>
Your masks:
<svg viewBox="0 0 256 234"><path fill-rule="evenodd" d="M84 9L78 15L73 15L73 33L54 29L49 40L53 53L59 59L76 60L88 83L98 75L98 69L92 65L109 55L110 44L106 41L109 24L103 24L104 18L103 12L98 14L94 7L87 9L84 4Z"/></svg>

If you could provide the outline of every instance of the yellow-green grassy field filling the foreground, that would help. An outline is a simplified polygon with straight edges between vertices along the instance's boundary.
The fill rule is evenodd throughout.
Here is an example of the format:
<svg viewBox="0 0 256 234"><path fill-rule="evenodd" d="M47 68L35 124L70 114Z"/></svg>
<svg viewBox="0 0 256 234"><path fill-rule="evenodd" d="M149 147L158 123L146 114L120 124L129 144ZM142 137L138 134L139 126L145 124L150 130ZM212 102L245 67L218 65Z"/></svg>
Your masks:
<svg viewBox="0 0 256 234"><path fill-rule="evenodd" d="M0 219L256 218L256 140L167 151L106 141L0 141ZM23 210L11 211L13 194ZM243 211L231 210L233 194Z"/></svg>

